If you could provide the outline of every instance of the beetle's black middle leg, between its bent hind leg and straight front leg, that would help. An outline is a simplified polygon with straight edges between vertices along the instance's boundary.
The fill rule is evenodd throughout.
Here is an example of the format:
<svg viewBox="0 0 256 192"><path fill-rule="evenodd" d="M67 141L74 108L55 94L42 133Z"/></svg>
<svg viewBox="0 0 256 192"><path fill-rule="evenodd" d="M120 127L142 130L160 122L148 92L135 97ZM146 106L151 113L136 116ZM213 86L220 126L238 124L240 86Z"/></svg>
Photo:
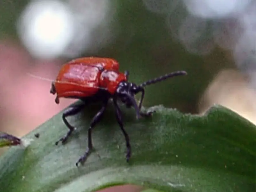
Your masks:
<svg viewBox="0 0 256 192"><path fill-rule="evenodd" d="M92 146L92 129L94 128L94 126L100 122L100 119L107 107L108 104L108 100L106 100L103 103L102 108L99 110L99 112L93 117L90 127L88 129L88 146L87 149L84 153L83 156L80 157L80 159L76 162L76 166L78 166L78 163L84 163L87 159L87 157L90 155L90 153L92 152L93 146Z"/></svg>

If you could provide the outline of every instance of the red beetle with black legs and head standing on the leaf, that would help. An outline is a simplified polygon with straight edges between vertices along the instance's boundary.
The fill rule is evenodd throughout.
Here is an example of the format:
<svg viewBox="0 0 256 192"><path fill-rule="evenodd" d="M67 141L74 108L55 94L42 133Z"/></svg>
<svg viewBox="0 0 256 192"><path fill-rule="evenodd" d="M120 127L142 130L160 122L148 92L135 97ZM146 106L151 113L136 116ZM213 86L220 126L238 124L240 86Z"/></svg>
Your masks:
<svg viewBox="0 0 256 192"><path fill-rule="evenodd" d="M143 113L140 111L142 101L144 99L144 87L146 85L154 84L163 81L173 76L186 75L185 71L176 71L164 76L148 80L140 85L129 83L129 71L124 73L119 71L119 63L115 59L100 58L100 57L83 57L71 60L64 64L57 75L55 81L52 82L50 93L56 94L55 102L59 104L59 98L73 98L80 99L83 102L67 108L62 114L62 120L68 127L67 134L58 140L55 144L61 141L65 143L68 137L75 130L75 127L70 125L67 121L68 116L76 115L86 105L92 102L102 102L102 107L98 113L92 118L90 127L88 129L88 146L83 156L76 162L84 163L93 149L92 145L92 129L100 121L104 113L108 100L112 99L117 123L119 124L126 142L126 161L131 157L131 145L129 135L124 129L121 110L117 104L120 100L127 108L132 106L135 109L137 119L140 116L151 116L152 112ZM141 92L139 104L136 103L134 96Z"/></svg>

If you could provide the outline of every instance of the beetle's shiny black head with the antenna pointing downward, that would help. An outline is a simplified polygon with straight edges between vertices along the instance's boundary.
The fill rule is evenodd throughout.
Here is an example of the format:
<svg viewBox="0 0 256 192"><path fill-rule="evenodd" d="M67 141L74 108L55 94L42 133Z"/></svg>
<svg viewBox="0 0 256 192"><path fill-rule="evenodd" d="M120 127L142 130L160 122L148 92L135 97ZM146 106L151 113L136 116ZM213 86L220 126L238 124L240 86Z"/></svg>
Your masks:
<svg viewBox="0 0 256 192"><path fill-rule="evenodd" d="M138 86L136 84L123 81L118 85L116 89L116 95L126 105L127 108L131 108L133 106L136 111L136 116L139 118L140 109L138 108L134 98L134 95L138 93L137 90Z"/></svg>

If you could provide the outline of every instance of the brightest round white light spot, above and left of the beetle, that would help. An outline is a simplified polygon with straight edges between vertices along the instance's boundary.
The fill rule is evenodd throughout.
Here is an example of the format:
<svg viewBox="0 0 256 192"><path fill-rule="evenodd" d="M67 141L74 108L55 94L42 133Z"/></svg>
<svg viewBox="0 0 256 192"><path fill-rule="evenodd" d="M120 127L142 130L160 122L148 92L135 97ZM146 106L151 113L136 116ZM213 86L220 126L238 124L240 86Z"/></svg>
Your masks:
<svg viewBox="0 0 256 192"><path fill-rule="evenodd" d="M73 38L72 12L61 1L33 1L20 16L18 32L25 47L35 57L58 57Z"/></svg>

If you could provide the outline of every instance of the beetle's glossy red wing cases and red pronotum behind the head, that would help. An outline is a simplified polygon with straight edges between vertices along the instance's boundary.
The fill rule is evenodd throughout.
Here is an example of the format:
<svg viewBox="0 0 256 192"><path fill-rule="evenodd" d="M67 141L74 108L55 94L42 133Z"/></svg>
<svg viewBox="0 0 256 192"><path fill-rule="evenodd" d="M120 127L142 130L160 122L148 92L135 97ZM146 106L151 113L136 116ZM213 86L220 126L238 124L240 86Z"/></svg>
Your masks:
<svg viewBox="0 0 256 192"><path fill-rule="evenodd" d="M85 57L72 60L60 69L55 90L58 98L90 97L99 87L114 94L117 85L126 80L126 76L119 72L119 63L116 60Z"/></svg>

